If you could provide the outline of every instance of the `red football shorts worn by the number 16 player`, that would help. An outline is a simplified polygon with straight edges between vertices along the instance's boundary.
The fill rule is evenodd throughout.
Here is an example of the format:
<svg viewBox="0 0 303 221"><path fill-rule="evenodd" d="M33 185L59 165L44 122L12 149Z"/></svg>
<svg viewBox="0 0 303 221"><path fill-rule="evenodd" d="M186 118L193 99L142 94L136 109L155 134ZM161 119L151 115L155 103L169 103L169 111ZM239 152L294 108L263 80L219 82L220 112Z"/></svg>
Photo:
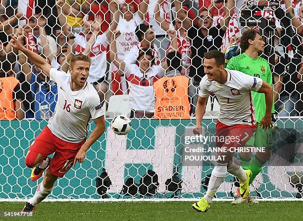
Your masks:
<svg viewBox="0 0 303 221"><path fill-rule="evenodd" d="M73 166L74 159L85 141L86 139L80 143L63 141L53 135L49 127L46 126L41 134L36 137L29 150L35 151L45 158L50 154L55 153L50 161L50 172L55 176L63 177L71 166Z"/></svg>

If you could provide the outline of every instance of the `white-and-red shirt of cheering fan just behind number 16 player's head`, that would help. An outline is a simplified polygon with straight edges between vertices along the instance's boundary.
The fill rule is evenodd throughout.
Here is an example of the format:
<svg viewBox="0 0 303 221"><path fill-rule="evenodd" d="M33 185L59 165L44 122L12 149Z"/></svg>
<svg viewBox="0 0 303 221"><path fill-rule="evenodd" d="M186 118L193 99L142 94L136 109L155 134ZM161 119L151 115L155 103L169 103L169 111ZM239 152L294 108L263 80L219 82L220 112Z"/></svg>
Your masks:
<svg viewBox="0 0 303 221"><path fill-rule="evenodd" d="M84 35L75 33L75 52L76 54L83 53L87 41ZM89 53L91 57L90 75L87 81L89 83L96 82L105 76L106 72L106 48L109 44L109 40L105 34L98 35L96 42L93 46L92 52Z"/></svg>

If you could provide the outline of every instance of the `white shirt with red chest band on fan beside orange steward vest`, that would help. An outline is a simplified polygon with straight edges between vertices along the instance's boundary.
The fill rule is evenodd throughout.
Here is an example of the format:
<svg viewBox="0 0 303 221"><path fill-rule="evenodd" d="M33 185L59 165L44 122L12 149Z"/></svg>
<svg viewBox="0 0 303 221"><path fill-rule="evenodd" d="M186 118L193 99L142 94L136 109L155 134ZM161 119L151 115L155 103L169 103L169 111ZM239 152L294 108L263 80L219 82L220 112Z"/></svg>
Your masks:
<svg viewBox="0 0 303 221"><path fill-rule="evenodd" d="M144 76L137 64L126 64L125 77L129 85L131 109L154 112L153 83L164 74L165 70L161 65L152 65Z"/></svg>

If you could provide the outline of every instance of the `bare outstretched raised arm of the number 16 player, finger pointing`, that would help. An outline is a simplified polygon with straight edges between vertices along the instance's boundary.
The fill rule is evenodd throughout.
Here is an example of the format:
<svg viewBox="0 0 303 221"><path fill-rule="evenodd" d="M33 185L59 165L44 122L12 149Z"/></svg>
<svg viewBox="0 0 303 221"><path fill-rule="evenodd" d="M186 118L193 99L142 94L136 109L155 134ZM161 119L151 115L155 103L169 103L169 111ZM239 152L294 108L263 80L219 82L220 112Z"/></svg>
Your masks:
<svg viewBox="0 0 303 221"><path fill-rule="evenodd" d="M31 61L32 63L36 64L38 67L40 67L43 72L50 77L50 68L51 65L44 59L42 56L37 55L36 53L26 49L18 39L16 39L12 34L10 34L11 40L9 44L15 49L19 50L24 53Z"/></svg>

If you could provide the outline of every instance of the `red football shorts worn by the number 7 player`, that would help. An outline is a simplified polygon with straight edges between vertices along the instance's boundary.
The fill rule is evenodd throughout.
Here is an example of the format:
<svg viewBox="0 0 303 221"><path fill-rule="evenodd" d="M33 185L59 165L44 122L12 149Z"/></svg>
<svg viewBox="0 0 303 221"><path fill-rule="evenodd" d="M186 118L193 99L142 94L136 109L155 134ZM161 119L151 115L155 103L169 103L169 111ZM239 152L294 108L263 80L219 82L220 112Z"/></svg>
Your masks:
<svg viewBox="0 0 303 221"><path fill-rule="evenodd" d="M217 120L216 147L243 147L253 136L256 125L228 126Z"/></svg>

